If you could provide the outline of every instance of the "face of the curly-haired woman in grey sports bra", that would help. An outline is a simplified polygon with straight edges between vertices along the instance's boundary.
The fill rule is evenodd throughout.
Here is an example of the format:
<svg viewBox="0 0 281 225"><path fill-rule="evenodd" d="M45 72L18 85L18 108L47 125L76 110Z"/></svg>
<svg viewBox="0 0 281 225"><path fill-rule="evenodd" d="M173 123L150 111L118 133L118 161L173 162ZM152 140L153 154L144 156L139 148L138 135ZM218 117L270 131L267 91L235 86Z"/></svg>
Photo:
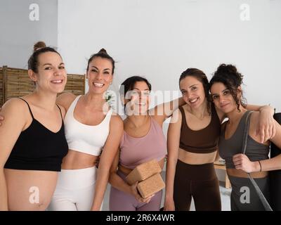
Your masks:
<svg viewBox="0 0 281 225"><path fill-rule="evenodd" d="M237 89L237 97L240 97L240 87ZM237 105L230 90L221 82L216 82L211 85L211 98L214 104L223 113L230 113L237 110Z"/></svg>

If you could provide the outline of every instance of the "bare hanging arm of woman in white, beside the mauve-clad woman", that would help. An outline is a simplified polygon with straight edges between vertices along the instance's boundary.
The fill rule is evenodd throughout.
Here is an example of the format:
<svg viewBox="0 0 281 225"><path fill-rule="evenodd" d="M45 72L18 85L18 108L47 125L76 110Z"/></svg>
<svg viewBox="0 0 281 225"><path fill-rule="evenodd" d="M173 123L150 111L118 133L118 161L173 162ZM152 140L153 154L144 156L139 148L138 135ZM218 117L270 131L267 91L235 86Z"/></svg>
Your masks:
<svg viewBox="0 0 281 225"><path fill-rule="evenodd" d="M99 211L103 203L103 196L110 175L110 167L117 154L119 143L123 134L123 121L119 115L112 115L110 119L110 133L107 136L103 153L98 165L98 176L96 179L95 193L91 210Z"/></svg>

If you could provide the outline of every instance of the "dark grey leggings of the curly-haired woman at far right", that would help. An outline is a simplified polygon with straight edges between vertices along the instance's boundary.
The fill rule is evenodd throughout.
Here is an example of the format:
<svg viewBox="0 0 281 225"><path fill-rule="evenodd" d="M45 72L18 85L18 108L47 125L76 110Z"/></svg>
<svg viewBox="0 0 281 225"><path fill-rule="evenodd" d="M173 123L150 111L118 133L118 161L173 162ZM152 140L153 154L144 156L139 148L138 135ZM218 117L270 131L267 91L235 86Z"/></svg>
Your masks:
<svg viewBox="0 0 281 225"><path fill-rule="evenodd" d="M233 188L230 196L232 211L263 211L264 207L249 178L228 176ZM269 203L269 179L254 179Z"/></svg>

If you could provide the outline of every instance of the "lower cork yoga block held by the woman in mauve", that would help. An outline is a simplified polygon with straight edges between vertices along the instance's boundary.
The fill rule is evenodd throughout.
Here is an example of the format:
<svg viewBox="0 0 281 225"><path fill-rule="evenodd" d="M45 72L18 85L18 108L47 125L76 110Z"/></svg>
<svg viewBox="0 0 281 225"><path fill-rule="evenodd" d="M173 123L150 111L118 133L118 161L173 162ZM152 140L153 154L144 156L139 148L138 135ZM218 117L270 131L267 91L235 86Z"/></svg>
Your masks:
<svg viewBox="0 0 281 225"><path fill-rule="evenodd" d="M150 176L148 179L138 183L138 192L141 194L141 197L148 198L148 196L157 193L165 187L164 181L160 174L155 174Z"/></svg>

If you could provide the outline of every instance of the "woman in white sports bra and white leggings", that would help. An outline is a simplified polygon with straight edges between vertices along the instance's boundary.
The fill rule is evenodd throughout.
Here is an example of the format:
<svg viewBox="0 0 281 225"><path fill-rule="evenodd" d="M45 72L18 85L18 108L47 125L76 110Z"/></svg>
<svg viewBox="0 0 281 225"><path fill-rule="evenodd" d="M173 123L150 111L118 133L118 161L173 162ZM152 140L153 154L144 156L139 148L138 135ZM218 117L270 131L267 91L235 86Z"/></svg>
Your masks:
<svg viewBox="0 0 281 225"><path fill-rule="evenodd" d="M57 99L67 110L65 136L69 150L48 210L100 210L123 131L122 119L113 115L103 98L114 69L115 61L101 49L88 61L89 91L83 96L65 93Z"/></svg>

